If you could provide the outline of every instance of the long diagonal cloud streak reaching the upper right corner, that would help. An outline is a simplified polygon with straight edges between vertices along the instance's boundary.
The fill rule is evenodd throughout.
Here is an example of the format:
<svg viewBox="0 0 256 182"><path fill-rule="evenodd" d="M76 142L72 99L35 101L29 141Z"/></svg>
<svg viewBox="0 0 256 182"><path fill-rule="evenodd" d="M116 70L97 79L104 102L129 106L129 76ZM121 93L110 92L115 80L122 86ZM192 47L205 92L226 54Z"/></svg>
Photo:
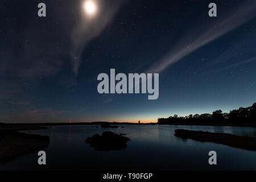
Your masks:
<svg viewBox="0 0 256 182"><path fill-rule="evenodd" d="M162 60L156 61L147 72L159 73L170 67L172 64L180 61L189 53L192 53L202 46L220 38L220 36L241 26L252 18L255 18L256 6L254 1L246 1L233 10L220 23L210 26L201 32L188 32L179 43Z"/></svg>

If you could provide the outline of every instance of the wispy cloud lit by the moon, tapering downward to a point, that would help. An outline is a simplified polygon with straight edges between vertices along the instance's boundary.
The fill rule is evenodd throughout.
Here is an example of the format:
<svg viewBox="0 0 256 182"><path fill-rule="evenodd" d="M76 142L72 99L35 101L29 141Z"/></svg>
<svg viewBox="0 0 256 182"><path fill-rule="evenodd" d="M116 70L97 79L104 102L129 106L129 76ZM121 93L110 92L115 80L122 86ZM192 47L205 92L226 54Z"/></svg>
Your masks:
<svg viewBox="0 0 256 182"><path fill-rule="evenodd" d="M81 17L77 26L73 28L71 34L71 59L73 71L77 76L81 64L81 54L85 46L93 39L97 38L104 28L112 22L114 15L118 12L121 2L125 1L99 1L97 3L97 13L94 16L86 16L81 10ZM83 3L84 1L81 1ZM82 6L81 6L82 7Z"/></svg>

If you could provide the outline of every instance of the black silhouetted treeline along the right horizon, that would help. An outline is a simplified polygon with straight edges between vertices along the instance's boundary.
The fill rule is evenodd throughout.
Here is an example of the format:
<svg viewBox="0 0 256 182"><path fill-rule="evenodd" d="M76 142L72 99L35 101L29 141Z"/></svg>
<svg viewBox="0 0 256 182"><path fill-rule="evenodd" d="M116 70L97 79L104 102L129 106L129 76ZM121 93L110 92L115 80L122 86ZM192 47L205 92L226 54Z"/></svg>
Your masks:
<svg viewBox="0 0 256 182"><path fill-rule="evenodd" d="M213 111L212 114L190 114L185 117L178 117L177 114L168 118L158 118L159 125L240 125L243 123L256 124L256 103L250 107L240 107L231 110L229 113L222 113L222 110Z"/></svg>

